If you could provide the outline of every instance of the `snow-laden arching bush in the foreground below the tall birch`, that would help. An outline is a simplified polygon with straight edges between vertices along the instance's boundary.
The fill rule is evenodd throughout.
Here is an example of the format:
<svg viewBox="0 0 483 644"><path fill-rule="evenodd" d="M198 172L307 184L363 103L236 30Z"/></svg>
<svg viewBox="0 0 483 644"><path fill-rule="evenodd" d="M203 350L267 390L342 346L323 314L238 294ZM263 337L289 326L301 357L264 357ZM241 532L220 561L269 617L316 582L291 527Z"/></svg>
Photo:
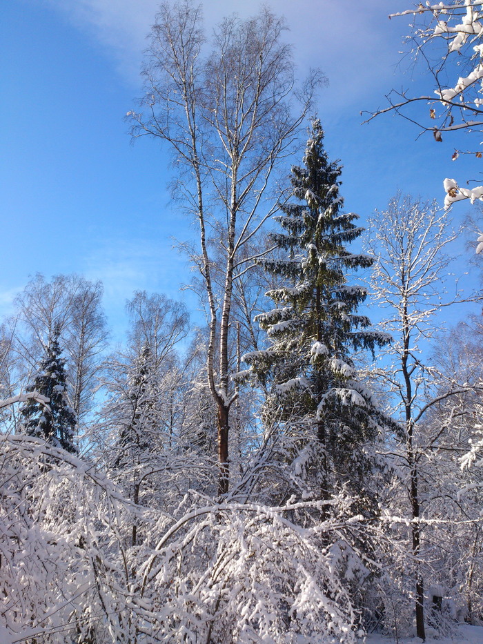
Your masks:
<svg viewBox="0 0 483 644"><path fill-rule="evenodd" d="M190 511L140 568L140 594L159 616L157 641L356 641L357 615L340 572L342 560L346 569L351 556L359 562L344 538L359 517L322 522L321 502L185 504Z"/></svg>

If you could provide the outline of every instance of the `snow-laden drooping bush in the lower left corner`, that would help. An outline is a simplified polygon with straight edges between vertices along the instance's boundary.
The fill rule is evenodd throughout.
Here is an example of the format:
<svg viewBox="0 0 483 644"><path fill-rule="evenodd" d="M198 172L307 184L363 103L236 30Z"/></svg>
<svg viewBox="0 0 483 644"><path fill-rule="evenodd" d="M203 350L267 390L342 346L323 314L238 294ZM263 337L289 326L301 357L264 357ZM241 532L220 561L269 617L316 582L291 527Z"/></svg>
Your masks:
<svg viewBox="0 0 483 644"><path fill-rule="evenodd" d="M1 641L129 641L127 509L112 484L41 438L1 436L0 499Z"/></svg>

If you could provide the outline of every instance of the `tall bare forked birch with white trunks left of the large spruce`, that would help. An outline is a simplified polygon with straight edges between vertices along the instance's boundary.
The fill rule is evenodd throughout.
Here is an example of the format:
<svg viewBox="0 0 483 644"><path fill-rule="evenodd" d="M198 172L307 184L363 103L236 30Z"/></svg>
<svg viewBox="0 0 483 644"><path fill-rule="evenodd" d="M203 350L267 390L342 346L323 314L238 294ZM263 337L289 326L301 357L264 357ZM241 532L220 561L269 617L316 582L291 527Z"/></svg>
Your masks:
<svg viewBox="0 0 483 644"><path fill-rule="evenodd" d="M229 360L233 284L257 255L244 251L277 207L270 177L292 150L319 81L313 72L295 91L284 29L284 20L264 8L249 19L224 19L208 44L199 6L162 4L150 33L141 111L128 113L135 137L170 146L178 177L173 193L199 226L199 246L190 255L208 301L206 373L217 407L220 495L228 491L230 409L237 398Z"/></svg>

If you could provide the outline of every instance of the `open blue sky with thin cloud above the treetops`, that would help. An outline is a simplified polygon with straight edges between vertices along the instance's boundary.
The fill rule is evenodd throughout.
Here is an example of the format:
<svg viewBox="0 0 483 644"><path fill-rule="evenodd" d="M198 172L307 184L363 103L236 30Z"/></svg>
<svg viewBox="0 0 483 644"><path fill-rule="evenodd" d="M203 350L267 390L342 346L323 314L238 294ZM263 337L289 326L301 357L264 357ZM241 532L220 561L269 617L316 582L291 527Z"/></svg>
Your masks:
<svg viewBox="0 0 483 644"><path fill-rule="evenodd" d="M155 142L130 144L124 115L141 94L139 68L155 0L9 0L2 4L0 315L28 275L77 272L101 279L115 335L135 289L197 306L190 268L172 237L195 236L170 204L168 157ZM362 125L392 88L421 79L398 65L408 18L388 20L405 0L274 0L295 45L300 77L319 66L329 79L318 113L326 148L342 160L346 209L362 217L400 189L443 202L444 177L475 178L473 160L451 162L458 143L401 119ZM208 28L259 3L208 0ZM445 137L446 139L446 137ZM302 150L301 155L302 156ZM295 159L295 162L299 159ZM473 165L472 165L473 164ZM287 168L288 169L288 168ZM461 218L469 204L458 204ZM466 270L462 260L461 271Z"/></svg>

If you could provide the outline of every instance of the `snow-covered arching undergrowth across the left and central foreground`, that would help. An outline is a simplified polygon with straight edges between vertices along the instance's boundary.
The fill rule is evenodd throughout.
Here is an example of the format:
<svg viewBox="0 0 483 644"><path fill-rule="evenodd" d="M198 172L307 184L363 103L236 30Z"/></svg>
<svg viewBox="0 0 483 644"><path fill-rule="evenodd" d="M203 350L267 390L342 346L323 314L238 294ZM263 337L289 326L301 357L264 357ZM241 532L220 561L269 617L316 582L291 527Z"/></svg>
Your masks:
<svg viewBox="0 0 483 644"><path fill-rule="evenodd" d="M0 441L2 644L355 644L362 634L348 581L363 566L346 540L358 516L194 491L173 511L148 511L40 438Z"/></svg>

